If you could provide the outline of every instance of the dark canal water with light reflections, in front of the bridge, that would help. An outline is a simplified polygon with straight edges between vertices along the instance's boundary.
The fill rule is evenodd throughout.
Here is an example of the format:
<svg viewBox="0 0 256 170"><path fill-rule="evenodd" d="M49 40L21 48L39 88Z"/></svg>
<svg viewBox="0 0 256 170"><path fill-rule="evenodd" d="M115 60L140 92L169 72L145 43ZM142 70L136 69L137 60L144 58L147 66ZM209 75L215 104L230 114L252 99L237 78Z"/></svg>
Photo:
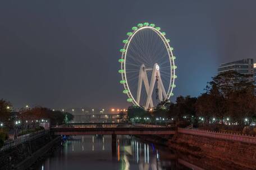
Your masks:
<svg viewBox="0 0 256 170"><path fill-rule="evenodd" d="M118 135L116 153L112 152L111 140L111 135L72 136L35 169L191 169L186 162L177 161L170 150L134 136Z"/></svg>

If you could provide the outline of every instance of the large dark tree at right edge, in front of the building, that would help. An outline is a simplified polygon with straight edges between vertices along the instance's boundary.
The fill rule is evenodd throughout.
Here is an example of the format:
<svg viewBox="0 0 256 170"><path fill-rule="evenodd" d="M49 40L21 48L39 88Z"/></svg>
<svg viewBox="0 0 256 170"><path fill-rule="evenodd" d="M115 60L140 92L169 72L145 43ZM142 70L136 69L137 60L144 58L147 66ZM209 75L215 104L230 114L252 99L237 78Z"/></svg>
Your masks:
<svg viewBox="0 0 256 170"><path fill-rule="evenodd" d="M228 117L240 125L244 124L244 117L252 120L255 107L252 78L236 71L223 72L213 77L207 84L206 92L196 102L196 112L204 116L207 122L214 117L223 123Z"/></svg>

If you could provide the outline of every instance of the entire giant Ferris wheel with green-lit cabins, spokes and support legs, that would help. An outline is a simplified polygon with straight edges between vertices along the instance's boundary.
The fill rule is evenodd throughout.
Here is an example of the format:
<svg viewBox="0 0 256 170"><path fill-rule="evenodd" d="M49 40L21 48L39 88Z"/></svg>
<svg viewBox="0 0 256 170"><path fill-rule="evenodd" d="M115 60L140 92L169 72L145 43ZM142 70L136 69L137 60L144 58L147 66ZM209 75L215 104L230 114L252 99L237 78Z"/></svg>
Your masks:
<svg viewBox="0 0 256 170"><path fill-rule="evenodd" d="M166 39L160 27L145 22L132 27L132 30L127 32L129 37L123 40L125 45L120 50L120 83L124 84L123 93L129 97L128 102L148 109L173 96L177 77L175 56L170 40Z"/></svg>

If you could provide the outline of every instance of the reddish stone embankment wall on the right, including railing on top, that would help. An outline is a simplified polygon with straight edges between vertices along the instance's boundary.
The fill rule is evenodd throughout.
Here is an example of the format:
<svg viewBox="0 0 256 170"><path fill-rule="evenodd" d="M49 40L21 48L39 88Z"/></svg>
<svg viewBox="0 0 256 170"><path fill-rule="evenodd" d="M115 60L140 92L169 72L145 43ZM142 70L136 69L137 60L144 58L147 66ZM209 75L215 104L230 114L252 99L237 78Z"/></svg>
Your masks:
<svg viewBox="0 0 256 170"><path fill-rule="evenodd" d="M178 129L167 145L179 158L204 169L256 169L254 141L249 135Z"/></svg>

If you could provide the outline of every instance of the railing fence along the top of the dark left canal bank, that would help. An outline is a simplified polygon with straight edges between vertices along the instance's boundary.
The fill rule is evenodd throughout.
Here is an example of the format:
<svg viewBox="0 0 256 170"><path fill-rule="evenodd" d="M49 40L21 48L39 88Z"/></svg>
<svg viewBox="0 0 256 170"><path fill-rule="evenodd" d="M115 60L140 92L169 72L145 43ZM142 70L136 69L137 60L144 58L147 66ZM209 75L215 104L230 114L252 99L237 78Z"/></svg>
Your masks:
<svg viewBox="0 0 256 170"><path fill-rule="evenodd" d="M6 141L3 144L3 146L0 148L0 152L3 152L4 150L8 150L10 148L16 147L17 145L25 143L28 140L33 140L33 139L39 138L40 136L44 135L45 133L48 133L48 131L39 130L34 133L18 136L14 140Z"/></svg>

